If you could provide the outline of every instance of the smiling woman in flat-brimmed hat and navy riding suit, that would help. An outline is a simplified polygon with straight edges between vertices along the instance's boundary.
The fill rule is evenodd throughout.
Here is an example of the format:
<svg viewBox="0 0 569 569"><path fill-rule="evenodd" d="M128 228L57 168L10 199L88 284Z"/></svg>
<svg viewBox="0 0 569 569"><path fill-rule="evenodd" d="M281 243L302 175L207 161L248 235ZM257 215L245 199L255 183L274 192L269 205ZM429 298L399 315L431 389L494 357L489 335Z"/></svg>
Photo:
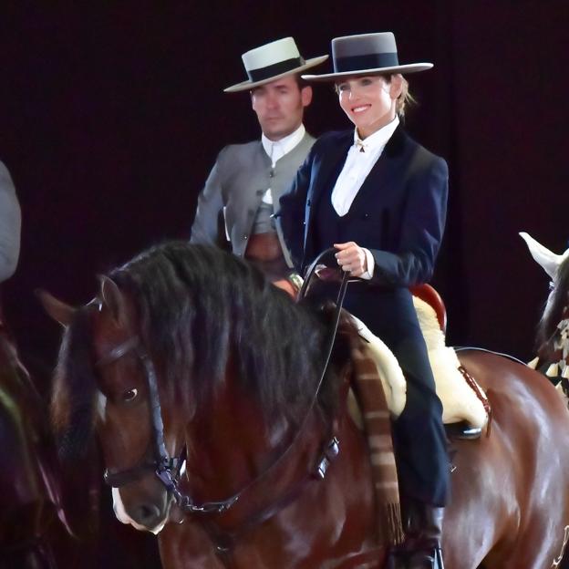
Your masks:
<svg viewBox="0 0 569 569"><path fill-rule="evenodd" d="M390 32L336 37L334 73L303 76L336 83L355 129L316 140L281 198L285 240L303 272L318 253L356 282L345 307L398 357L408 381L406 407L394 422L399 484L406 512L401 557L408 569L439 566L443 506L449 486L440 399L409 286L429 281L446 217L445 160L400 125L409 74L429 63L399 65ZM400 560L399 560L400 561Z"/></svg>

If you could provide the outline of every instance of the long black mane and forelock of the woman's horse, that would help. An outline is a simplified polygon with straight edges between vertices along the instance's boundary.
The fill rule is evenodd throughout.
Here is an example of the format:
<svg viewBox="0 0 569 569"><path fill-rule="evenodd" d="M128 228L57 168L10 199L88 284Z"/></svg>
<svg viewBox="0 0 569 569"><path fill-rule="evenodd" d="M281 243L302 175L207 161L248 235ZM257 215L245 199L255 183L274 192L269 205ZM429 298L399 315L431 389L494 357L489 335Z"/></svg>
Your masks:
<svg viewBox="0 0 569 569"><path fill-rule="evenodd" d="M175 400L190 417L207 407L230 365L238 387L258 398L269 425L275 417L294 423L304 417L324 366L329 311L295 305L258 269L206 245L152 247L109 278L135 308L140 340L160 376L160 397ZM67 435L71 448L85 441L94 416L92 338L82 310L64 337L53 407L56 424L73 431ZM318 401L326 415L336 401L334 370L348 357L347 341L339 338Z"/></svg>

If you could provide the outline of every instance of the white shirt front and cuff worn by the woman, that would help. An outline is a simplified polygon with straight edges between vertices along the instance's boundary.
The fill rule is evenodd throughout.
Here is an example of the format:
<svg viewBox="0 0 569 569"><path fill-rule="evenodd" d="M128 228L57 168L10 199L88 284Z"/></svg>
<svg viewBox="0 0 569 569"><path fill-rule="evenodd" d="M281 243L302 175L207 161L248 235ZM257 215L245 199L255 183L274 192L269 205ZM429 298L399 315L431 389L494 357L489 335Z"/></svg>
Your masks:
<svg viewBox="0 0 569 569"><path fill-rule="evenodd" d="M354 144L347 152L346 163L332 190L332 205L339 216L344 216L349 212L357 192L367 178L367 174L378 161L388 140L398 128L398 124L399 119L396 115L395 119L365 140L359 138L357 129L354 130ZM362 274L360 278L369 280L373 275L376 263L370 251L364 249L364 252L367 258L367 272Z"/></svg>

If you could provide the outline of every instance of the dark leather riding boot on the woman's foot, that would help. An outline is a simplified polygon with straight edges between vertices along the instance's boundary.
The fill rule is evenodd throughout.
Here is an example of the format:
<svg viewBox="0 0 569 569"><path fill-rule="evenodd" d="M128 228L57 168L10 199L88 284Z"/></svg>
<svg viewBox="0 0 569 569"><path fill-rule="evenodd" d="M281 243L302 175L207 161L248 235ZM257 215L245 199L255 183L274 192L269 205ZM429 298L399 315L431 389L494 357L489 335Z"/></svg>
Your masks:
<svg viewBox="0 0 569 569"><path fill-rule="evenodd" d="M421 502L407 507L405 543L396 554L397 569L444 569L440 541L444 508Z"/></svg>

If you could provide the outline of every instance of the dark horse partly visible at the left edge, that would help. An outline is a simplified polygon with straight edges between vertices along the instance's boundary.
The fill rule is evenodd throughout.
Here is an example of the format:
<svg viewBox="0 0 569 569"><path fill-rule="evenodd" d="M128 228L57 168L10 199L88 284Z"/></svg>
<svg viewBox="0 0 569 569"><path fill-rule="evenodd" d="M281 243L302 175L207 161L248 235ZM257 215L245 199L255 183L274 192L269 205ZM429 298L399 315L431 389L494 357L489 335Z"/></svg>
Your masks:
<svg viewBox="0 0 569 569"><path fill-rule="evenodd" d="M1 321L0 453L0 567L55 568L71 538L47 405Z"/></svg>

